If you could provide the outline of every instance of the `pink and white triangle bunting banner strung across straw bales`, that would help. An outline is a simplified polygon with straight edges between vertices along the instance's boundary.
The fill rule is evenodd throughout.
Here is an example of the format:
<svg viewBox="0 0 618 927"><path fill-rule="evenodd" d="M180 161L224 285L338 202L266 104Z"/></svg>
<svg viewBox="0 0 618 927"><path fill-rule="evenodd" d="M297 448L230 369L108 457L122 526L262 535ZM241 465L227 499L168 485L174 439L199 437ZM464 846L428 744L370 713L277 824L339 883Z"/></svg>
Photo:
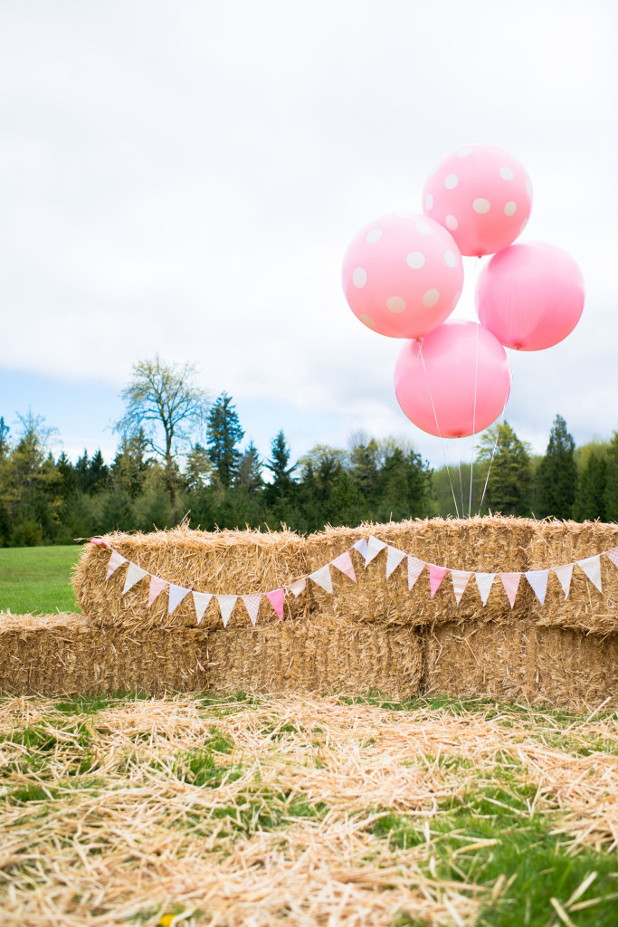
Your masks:
<svg viewBox="0 0 618 927"><path fill-rule="evenodd" d="M122 595L126 595L127 592L132 590L133 586L140 582L141 579L147 577L149 580L148 608L151 608L154 603L157 602L158 596L163 590L168 589L168 614L171 615L172 612L174 612L189 595L189 593L191 593L191 599L195 608L197 624L200 624L202 618L206 614L206 610L210 601L213 598L216 598L217 603L219 604L219 610L224 628L227 628L228 621L230 620L230 616L232 615L234 605L238 598L242 598L246 608L246 613L249 616L251 624L255 627L259 616L259 605L263 596L268 599L279 620L283 621L286 593L290 593L297 598L307 589L308 579L312 579L316 585L322 588L322 590L333 594L333 577L331 575L332 566L334 566L334 568L337 569L340 573L343 573L344 576L349 578L352 582L357 582L358 579L354 568L354 562L350 555L352 551L355 551L359 554L363 562L362 565L366 568L369 564L372 563L373 560L375 560L380 552L386 550L386 563L385 567L383 567L385 570L386 578L392 576L392 574L397 569L397 566L402 564L404 560L407 560L408 590L412 590L414 588L426 566L429 572L429 594L431 599L435 597L437 590L442 585L442 582L447 574L450 574L455 601L458 605L460 605L463 593L468 588L468 584L472 577L474 577L476 589L478 590L481 602L485 606L487 599L489 598L489 593L493 588L494 579L498 576L509 600L511 608L513 608L515 599L517 597L517 592L520 588L522 577L526 578L528 585L536 595L536 599L541 605L543 605L545 604L547 597L550 572L553 572L555 577L558 579L561 585L561 590L564 592L564 599L566 600L569 597L571 591L571 582L573 579L573 570L575 565L580 567L586 578L592 583L593 586L595 586L597 590L599 590L599 592L602 592L600 561L601 556L606 556L609 562L614 567L618 568L618 547L612 547L609 551L603 551L590 557L584 557L572 564L549 566L546 569L541 570L526 570L523 572L510 573L486 573L482 571L475 572L473 570L460 570L449 566L428 563L427 561L421 560L419 557L405 553L404 551L399 550L397 547L392 547L390 544L386 544L385 541L378 540L377 538L372 537L372 535L369 535L367 538L360 538L357 540L354 544L352 544L348 551L340 553L338 556L334 557L334 560L330 561L330 563L324 564L319 569L314 570L313 573L309 574L309 576L299 577L288 585L282 586L280 589L268 590L264 592L253 592L244 595L214 595L212 592L198 592L195 590L185 589L183 586L178 586L175 583L170 582L169 579L164 579L162 577L155 576L152 573L148 573L144 567L132 563L132 561L128 560L120 552L115 551L106 540L94 539L92 540L92 543L99 547L106 547L109 550L109 560L107 561L106 574L107 580L117 573L120 566L127 564L127 570L124 574L124 578L123 580L120 580L123 584Z"/></svg>

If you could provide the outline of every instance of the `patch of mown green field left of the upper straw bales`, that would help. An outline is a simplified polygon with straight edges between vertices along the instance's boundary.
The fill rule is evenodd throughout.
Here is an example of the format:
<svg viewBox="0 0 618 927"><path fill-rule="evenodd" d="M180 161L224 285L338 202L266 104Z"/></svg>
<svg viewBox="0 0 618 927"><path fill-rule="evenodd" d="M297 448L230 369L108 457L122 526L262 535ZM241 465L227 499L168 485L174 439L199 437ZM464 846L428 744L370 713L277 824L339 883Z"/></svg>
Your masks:
<svg viewBox="0 0 618 927"><path fill-rule="evenodd" d="M14 615L79 612L70 585L82 547L0 549L0 612Z"/></svg>

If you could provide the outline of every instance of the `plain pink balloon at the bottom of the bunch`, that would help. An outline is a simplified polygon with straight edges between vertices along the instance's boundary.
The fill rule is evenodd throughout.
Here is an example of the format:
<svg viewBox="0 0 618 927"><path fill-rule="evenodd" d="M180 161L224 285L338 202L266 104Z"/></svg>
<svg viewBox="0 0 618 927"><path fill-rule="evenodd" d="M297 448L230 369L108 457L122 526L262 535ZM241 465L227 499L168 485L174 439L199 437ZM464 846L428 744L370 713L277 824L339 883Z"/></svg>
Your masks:
<svg viewBox="0 0 618 927"><path fill-rule="evenodd" d="M475 322L447 322L399 351L397 401L410 422L430 435L463 438L483 431L510 391L505 349Z"/></svg>

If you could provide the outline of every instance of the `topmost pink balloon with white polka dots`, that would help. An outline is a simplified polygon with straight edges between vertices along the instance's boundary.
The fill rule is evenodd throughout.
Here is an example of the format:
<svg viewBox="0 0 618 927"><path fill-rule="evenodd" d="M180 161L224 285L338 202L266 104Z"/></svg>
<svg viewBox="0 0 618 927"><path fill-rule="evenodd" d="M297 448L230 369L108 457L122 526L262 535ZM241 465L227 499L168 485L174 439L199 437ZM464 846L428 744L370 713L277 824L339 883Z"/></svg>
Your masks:
<svg viewBox="0 0 618 927"><path fill-rule="evenodd" d="M451 151L423 189L423 211L444 225L461 254L495 254L523 232L532 184L502 148L469 145Z"/></svg>

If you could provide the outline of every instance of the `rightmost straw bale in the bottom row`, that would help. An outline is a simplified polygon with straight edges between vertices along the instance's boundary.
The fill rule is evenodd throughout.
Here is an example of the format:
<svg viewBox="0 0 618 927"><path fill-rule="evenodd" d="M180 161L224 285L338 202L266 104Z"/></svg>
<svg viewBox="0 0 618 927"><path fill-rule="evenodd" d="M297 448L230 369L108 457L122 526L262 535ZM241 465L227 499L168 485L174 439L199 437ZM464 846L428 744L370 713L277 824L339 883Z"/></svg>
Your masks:
<svg viewBox="0 0 618 927"><path fill-rule="evenodd" d="M436 625L423 640L423 692L526 699L581 709L618 705L618 635L534 620Z"/></svg>

